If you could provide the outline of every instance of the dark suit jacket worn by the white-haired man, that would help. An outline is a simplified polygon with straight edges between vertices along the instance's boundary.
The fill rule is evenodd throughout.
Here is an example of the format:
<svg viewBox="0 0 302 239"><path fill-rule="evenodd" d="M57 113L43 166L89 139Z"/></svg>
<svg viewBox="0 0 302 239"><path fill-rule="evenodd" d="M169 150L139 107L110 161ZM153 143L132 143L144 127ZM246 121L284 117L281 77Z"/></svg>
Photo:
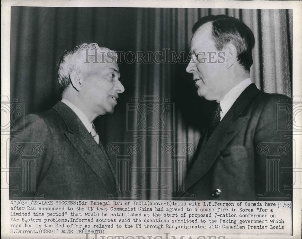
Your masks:
<svg viewBox="0 0 302 239"><path fill-rule="evenodd" d="M102 200L116 192L107 153L68 106L59 101L24 122L25 130L10 142L11 199Z"/></svg>

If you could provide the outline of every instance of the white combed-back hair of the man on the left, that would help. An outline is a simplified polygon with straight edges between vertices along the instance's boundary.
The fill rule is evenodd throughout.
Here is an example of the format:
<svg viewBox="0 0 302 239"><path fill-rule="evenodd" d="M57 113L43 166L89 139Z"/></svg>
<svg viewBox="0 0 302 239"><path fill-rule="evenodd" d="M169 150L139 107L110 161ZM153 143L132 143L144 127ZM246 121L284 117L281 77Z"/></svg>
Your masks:
<svg viewBox="0 0 302 239"><path fill-rule="evenodd" d="M90 51L93 50L93 51ZM95 53L101 53L101 56L110 56L117 61L117 53L106 47L98 46L98 43L83 43L75 48L65 50L62 56L57 60L58 83L61 94L70 84L69 75L72 71L81 71L82 63L102 62L104 59L98 59ZM88 56L88 59L86 59Z"/></svg>

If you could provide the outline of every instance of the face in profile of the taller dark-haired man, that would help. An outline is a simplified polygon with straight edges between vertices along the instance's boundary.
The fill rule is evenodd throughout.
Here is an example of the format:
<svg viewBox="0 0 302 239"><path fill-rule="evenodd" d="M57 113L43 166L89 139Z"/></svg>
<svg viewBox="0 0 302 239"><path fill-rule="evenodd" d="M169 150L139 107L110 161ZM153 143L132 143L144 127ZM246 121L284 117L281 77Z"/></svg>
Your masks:
<svg viewBox="0 0 302 239"><path fill-rule="evenodd" d="M225 72L224 52L218 51L212 37L212 24L196 30L191 40L192 59L186 69L193 74L199 96L207 100L221 100Z"/></svg>

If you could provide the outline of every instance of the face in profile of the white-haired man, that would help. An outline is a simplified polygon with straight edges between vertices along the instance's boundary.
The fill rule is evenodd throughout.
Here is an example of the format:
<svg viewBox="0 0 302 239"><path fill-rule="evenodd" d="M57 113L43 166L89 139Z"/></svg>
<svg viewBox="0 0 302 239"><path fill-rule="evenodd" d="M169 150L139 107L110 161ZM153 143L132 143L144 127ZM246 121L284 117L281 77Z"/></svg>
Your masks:
<svg viewBox="0 0 302 239"><path fill-rule="evenodd" d="M113 112L118 93L124 92L125 89L119 81L117 62L100 54L98 57L98 63L93 60L82 64L83 83L80 94L88 104L87 107L92 108L97 115L104 115Z"/></svg>

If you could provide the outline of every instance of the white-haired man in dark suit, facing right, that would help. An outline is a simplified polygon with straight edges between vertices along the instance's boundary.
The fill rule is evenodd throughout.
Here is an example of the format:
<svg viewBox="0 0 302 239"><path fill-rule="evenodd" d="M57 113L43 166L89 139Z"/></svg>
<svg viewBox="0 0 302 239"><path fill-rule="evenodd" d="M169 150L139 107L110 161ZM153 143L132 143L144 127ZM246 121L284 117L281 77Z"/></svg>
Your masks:
<svg viewBox="0 0 302 239"><path fill-rule="evenodd" d="M93 121L110 114L124 92L117 54L97 43L65 51L58 61L62 100L16 123L10 142L11 199L108 199L116 174Z"/></svg>

